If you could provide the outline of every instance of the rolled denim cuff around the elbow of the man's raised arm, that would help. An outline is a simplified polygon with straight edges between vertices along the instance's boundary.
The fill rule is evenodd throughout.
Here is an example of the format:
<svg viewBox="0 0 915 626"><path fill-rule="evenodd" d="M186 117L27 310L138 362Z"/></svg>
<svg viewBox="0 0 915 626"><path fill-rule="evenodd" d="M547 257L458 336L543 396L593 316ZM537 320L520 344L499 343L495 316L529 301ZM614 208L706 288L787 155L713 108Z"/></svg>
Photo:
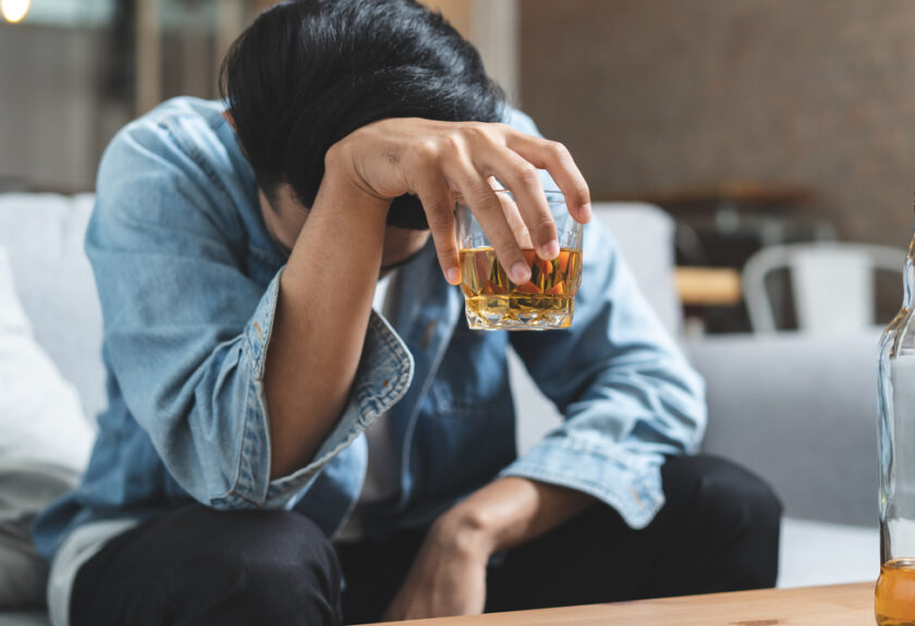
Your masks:
<svg viewBox="0 0 915 626"><path fill-rule="evenodd" d="M245 336L252 370L245 403L239 472L231 491L213 498L218 508L281 508L306 489L320 469L400 401L413 379L413 357L388 322L371 311L365 345L350 401L337 425L306 466L270 480L270 427L264 388L264 366L273 329L277 273L252 316Z"/></svg>

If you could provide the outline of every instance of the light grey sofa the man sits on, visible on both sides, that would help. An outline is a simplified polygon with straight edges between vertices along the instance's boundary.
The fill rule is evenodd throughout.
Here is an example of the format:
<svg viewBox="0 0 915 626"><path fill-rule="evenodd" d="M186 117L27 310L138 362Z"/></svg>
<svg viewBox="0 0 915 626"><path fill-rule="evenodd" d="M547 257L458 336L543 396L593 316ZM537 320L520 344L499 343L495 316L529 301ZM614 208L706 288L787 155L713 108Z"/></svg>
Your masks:
<svg viewBox="0 0 915 626"><path fill-rule="evenodd" d="M83 254L91 196L0 196L0 246L36 339L80 390L87 415L105 404L101 315ZM661 319L679 333L673 225L647 205L602 205ZM877 330L849 337L777 334L707 337L683 346L706 377L705 450L767 478L785 504L782 586L875 578L878 570L875 370ZM557 419L522 367L512 366L529 446ZM41 613L0 613L3 624L46 624Z"/></svg>

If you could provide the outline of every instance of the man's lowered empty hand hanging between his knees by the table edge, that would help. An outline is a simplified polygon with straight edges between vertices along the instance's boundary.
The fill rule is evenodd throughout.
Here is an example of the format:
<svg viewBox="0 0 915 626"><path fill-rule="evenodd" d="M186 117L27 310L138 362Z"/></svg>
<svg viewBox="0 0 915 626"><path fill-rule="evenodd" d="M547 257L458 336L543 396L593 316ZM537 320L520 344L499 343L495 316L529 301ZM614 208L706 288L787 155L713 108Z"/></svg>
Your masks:
<svg viewBox="0 0 915 626"><path fill-rule="evenodd" d="M429 530L386 622L477 615L486 604L490 548L479 533L441 517Z"/></svg>

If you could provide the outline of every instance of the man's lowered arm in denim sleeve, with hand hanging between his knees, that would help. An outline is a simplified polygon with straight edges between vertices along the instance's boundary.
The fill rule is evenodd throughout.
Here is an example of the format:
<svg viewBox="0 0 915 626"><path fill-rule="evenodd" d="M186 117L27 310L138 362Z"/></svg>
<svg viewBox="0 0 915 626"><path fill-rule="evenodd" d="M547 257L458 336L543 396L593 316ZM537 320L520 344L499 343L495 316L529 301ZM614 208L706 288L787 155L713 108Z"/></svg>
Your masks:
<svg viewBox="0 0 915 626"><path fill-rule="evenodd" d="M518 111L510 112L509 123L538 134ZM600 501L644 527L663 503L664 455L698 444L701 380L599 224L585 229L584 263L572 329L510 336L564 424L436 521L388 618L481 612L489 555L534 539L590 503Z"/></svg>

